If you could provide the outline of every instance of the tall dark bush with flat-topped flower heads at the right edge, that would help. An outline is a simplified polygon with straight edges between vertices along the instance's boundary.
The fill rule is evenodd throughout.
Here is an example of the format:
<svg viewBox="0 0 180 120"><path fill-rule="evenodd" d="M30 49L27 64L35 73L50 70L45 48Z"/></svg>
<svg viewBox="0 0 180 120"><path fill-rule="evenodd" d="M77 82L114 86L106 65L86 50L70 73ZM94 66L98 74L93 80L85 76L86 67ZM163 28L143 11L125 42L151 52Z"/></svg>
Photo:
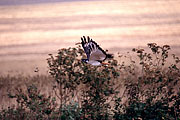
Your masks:
<svg viewBox="0 0 180 120"><path fill-rule="evenodd" d="M171 65L166 65L170 46L148 44L152 53L144 49L133 49L139 58L140 73L134 80L128 80L126 86L127 103L121 102L122 97L116 98L115 119L143 120L178 120L180 69L179 58L173 54ZM131 61L132 64L134 61ZM130 64L131 68L132 64ZM122 103L122 104L120 104ZM178 104L177 104L178 103Z"/></svg>

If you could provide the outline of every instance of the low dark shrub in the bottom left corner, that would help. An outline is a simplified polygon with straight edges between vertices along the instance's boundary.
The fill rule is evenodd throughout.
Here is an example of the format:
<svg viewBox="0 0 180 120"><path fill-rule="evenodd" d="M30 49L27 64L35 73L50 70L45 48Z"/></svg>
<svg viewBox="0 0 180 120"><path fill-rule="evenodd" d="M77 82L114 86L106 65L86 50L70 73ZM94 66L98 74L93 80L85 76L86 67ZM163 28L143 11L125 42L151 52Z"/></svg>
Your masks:
<svg viewBox="0 0 180 120"><path fill-rule="evenodd" d="M56 104L54 98L40 94L36 86L27 87L27 91L16 89L16 94L8 94L15 98L17 107L8 108L1 113L1 119L48 119Z"/></svg>

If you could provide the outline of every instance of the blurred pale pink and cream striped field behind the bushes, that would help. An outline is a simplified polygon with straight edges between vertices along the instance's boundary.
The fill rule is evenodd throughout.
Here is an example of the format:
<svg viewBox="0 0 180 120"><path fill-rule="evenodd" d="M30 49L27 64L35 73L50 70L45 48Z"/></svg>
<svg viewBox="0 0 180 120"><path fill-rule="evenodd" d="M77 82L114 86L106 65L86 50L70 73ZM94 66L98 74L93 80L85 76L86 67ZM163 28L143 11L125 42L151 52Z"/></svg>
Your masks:
<svg viewBox="0 0 180 120"><path fill-rule="evenodd" d="M180 1L1 0L0 74L46 74L48 54L83 35L111 53L153 42L180 56Z"/></svg>

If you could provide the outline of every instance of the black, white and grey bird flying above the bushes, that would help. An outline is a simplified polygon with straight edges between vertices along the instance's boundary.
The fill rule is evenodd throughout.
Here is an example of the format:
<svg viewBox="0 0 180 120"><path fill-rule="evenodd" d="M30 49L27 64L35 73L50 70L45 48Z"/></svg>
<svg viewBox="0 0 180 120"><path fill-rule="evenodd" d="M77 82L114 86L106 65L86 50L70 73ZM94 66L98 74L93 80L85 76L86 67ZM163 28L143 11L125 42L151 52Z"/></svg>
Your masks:
<svg viewBox="0 0 180 120"><path fill-rule="evenodd" d="M112 54L107 54L95 41L90 39L89 36L87 37L87 39L85 36L81 37L81 42L76 43L76 45L77 44L82 45L87 56L87 59L81 59L82 62L94 66L108 65L108 63L105 63L104 61L107 58L113 58Z"/></svg>

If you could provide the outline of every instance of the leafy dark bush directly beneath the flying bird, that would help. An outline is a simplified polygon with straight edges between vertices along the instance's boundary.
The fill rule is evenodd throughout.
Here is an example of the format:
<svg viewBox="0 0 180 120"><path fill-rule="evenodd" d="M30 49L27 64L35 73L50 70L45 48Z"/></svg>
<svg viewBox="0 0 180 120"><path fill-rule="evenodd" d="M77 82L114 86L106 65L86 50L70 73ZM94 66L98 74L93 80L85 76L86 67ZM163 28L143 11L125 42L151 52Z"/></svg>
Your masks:
<svg viewBox="0 0 180 120"><path fill-rule="evenodd" d="M114 66L117 66L116 60L109 61L109 66L91 66L84 64L78 57L84 54L80 48L69 48L59 50L54 58L50 55L48 64L50 74L54 76L56 87L60 99L60 108L67 104L69 100L75 98L75 92L81 88L81 96L78 101L81 103L82 117L86 119L108 119L111 108L111 95L115 93L114 84L119 76Z"/></svg>

